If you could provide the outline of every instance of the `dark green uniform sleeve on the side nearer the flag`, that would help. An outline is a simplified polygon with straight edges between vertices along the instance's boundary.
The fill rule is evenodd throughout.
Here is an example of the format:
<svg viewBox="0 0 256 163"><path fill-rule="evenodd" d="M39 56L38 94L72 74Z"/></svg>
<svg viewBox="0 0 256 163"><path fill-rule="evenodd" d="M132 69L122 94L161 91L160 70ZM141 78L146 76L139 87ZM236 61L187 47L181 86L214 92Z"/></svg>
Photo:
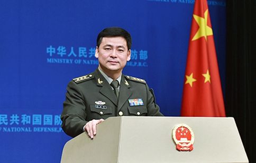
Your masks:
<svg viewBox="0 0 256 163"><path fill-rule="evenodd" d="M148 96L148 103L147 103L147 109L148 109L148 116L163 116L162 113L160 113L160 108L156 104L156 98L154 96L153 89L149 89L149 86L146 84L147 88L147 96Z"/></svg>

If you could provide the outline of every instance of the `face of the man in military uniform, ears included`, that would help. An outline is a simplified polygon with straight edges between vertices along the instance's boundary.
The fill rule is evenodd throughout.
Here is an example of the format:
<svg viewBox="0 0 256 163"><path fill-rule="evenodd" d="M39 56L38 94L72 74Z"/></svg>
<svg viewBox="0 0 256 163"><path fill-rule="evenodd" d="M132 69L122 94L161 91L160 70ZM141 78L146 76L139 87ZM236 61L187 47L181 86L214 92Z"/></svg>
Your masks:
<svg viewBox="0 0 256 163"><path fill-rule="evenodd" d="M103 37L102 43L96 47L95 57L104 72L121 72L131 59L131 49L128 50L123 37Z"/></svg>

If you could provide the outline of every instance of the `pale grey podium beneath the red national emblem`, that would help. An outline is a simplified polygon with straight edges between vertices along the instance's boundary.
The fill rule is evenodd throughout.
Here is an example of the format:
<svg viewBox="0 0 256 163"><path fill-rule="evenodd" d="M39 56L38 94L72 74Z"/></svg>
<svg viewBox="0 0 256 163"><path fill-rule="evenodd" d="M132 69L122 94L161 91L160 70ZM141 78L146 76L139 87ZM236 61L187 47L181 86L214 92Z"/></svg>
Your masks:
<svg viewBox="0 0 256 163"><path fill-rule="evenodd" d="M194 150L178 151L172 129L186 124L195 135ZM112 117L69 140L61 163L249 162L233 118Z"/></svg>

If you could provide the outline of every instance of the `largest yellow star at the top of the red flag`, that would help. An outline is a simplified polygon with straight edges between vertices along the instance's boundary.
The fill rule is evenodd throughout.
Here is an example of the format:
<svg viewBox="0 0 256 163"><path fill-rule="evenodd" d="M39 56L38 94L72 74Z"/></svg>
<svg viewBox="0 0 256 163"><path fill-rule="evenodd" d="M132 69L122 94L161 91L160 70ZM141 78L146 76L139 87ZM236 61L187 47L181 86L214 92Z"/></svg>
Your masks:
<svg viewBox="0 0 256 163"><path fill-rule="evenodd" d="M196 23L199 25L199 29L197 30L195 36L192 38L192 40L196 40L201 37L205 37L207 40L207 36L213 35L213 29L207 25L207 19L208 19L208 9L206 9L204 13L204 17L200 17L198 15L193 15Z"/></svg>

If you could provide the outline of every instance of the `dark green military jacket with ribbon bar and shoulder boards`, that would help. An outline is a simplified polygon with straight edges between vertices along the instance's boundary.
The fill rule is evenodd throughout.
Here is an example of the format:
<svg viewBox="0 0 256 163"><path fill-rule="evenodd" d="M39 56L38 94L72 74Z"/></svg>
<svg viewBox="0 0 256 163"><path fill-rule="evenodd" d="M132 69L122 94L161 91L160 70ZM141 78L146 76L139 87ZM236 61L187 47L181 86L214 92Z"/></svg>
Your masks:
<svg viewBox="0 0 256 163"><path fill-rule="evenodd" d="M75 137L88 121L113 116L163 115L145 80L122 75L119 99L98 69L71 80L61 114L66 134Z"/></svg>

